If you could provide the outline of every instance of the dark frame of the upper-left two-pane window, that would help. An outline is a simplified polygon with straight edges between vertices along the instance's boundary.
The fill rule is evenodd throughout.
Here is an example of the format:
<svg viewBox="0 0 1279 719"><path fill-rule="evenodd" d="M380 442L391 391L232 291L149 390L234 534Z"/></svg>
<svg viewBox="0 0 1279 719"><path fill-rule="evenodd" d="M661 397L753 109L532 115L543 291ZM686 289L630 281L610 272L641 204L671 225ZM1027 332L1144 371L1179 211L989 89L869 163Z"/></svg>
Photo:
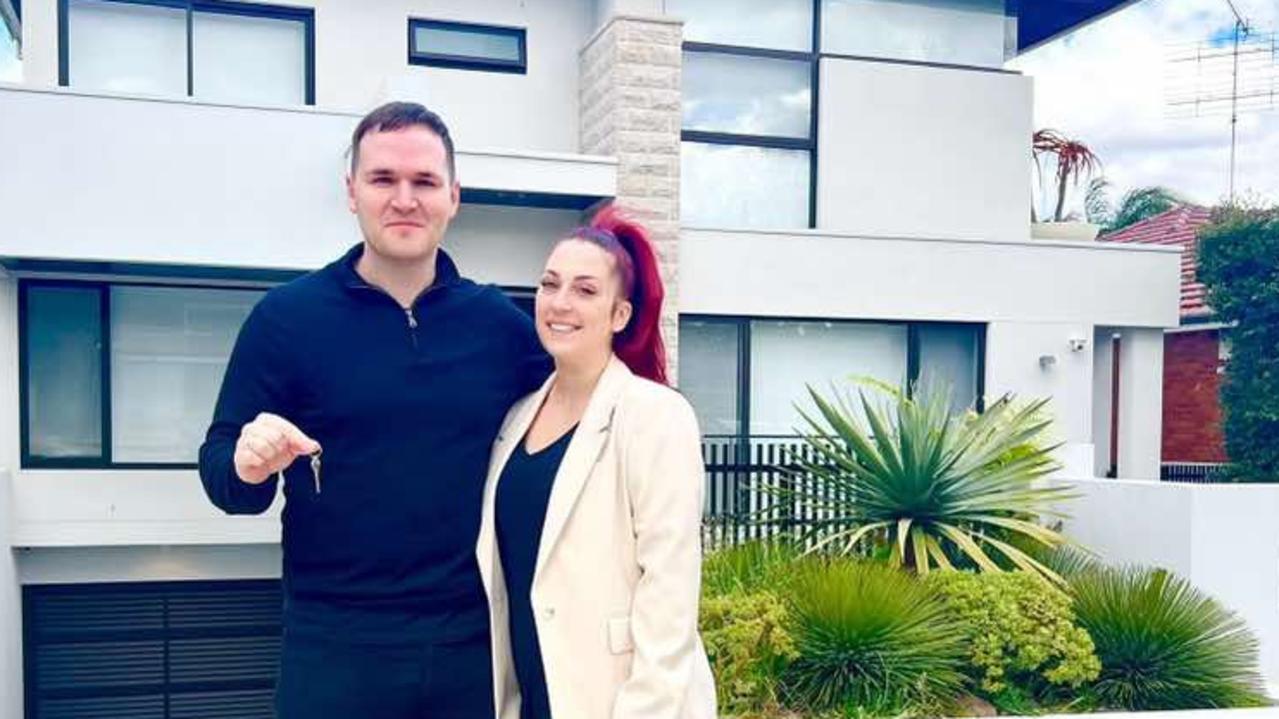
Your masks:
<svg viewBox="0 0 1279 719"><path fill-rule="evenodd" d="M312 8L295 8L289 5L262 5L257 3L239 3L230 0L93 0L95 3L115 3L119 5L145 5L151 8L173 8L187 13L187 95L194 96L194 50L193 50L193 18L196 13L217 15L238 15L244 18L266 18L274 20L299 22L304 28L303 54L304 54L304 90L306 105L316 104L316 13ZM58 84L70 86L70 0L58 0Z"/></svg>

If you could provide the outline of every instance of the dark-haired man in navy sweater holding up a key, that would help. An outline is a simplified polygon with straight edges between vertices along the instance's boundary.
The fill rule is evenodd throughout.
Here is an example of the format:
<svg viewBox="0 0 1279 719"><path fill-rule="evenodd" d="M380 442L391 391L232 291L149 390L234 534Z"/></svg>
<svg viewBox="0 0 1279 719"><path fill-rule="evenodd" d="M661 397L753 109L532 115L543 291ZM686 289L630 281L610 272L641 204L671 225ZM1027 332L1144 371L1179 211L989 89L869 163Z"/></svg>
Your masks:
<svg viewBox="0 0 1279 719"><path fill-rule="evenodd" d="M281 718L492 716L481 493L503 416L549 363L440 249L460 193L440 118L384 105L350 154L363 243L253 308L200 476L238 514L283 473Z"/></svg>

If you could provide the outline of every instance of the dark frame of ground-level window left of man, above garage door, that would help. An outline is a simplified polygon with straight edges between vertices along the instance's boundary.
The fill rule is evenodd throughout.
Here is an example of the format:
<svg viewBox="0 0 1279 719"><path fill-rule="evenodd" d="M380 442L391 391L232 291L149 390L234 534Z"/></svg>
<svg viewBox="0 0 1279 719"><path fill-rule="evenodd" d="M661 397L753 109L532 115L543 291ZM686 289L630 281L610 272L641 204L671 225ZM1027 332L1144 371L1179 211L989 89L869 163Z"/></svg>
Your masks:
<svg viewBox="0 0 1279 719"><path fill-rule="evenodd" d="M194 470L196 462L116 462L111 457L111 288L151 287L173 289L223 289L265 292L260 284L184 284L166 281L74 280L33 279L18 280L18 434L19 467L23 470ZM97 457L41 457L31 453L31 357L28 348L29 292L32 288L72 288L96 290L98 296L98 321L102 340L98 344L98 370L101 372L101 431L102 450ZM212 412L212 407L208 408Z"/></svg>

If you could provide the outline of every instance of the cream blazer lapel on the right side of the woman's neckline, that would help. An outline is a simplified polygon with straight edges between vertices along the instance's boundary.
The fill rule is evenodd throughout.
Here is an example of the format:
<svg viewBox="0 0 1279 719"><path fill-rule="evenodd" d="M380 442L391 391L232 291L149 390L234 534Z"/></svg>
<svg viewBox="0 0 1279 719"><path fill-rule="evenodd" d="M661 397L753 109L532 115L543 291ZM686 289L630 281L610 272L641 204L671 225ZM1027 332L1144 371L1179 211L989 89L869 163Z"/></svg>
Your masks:
<svg viewBox="0 0 1279 719"><path fill-rule="evenodd" d="M550 502L546 504L546 519L542 522L542 539L537 546L535 581L555 549L555 542L559 541L564 525L568 523L573 505L577 504L577 498L582 494L582 487L586 486L586 480L591 476L591 470L600 461L600 454L613 431L614 409L616 409L618 399L631 376L631 370L620 360L613 357L600 376L595 391L591 393L591 402L586 406L586 412L582 415L582 421L578 423L573 439L568 443L568 449L564 450L559 471L555 472L555 484L551 486Z"/></svg>

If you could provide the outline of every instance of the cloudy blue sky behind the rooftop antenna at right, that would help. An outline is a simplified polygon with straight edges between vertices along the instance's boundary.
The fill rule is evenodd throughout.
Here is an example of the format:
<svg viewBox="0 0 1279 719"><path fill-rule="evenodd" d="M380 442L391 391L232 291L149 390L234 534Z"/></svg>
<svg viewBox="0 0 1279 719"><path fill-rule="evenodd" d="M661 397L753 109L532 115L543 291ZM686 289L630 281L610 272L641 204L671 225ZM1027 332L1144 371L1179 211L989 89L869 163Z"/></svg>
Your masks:
<svg viewBox="0 0 1279 719"><path fill-rule="evenodd" d="M1233 1L1257 33L1279 31L1279 0ZM1141 0L1017 58L1009 68L1035 79L1036 128L1083 141L1101 157L1113 200L1131 188L1160 184L1214 205L1229 188L1229 111L1173 116L1166 95L1188 75L1174 72L1169 58L1198 41L1228 49L1233 27L1227 0ZM1228 92L1228 74L1224 78L1218 86ZM1279 84L1274 88L1279 93ZM1279 95L1273 107L1239 114L1236 193L1275 203ZM1068 207L1079 207L1082 196L1081 186Z"/></svg>

